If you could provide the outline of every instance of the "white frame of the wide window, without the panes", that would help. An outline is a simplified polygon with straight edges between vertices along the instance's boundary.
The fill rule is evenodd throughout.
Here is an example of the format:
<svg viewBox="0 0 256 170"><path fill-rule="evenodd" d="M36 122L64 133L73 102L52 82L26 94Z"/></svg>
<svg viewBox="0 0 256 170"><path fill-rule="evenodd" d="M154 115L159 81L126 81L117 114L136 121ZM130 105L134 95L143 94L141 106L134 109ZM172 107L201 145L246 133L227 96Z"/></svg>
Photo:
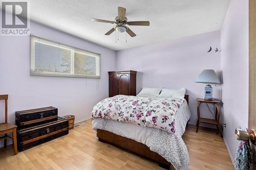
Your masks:
<svg viewBox="0 0 256 170"><path fill-rule="evenodd" d="M52 71L36 71L35 70L35 42L46 44L50 46L55 46L58 48L63 48L65 50L71 51L71 73L64 72L52 72ZM96 58L96 75L83 75L74 73L74 54L79 53L82 55L87 55ZM90 51L82 50L70 45L62 44L59 42L54 42L44 38L40 38L34 35L30 35L30 75L31 76L54 76L54 77L77 77L77 78L96 78L100 79L100 57L98 53L93 53Z"/></svg>

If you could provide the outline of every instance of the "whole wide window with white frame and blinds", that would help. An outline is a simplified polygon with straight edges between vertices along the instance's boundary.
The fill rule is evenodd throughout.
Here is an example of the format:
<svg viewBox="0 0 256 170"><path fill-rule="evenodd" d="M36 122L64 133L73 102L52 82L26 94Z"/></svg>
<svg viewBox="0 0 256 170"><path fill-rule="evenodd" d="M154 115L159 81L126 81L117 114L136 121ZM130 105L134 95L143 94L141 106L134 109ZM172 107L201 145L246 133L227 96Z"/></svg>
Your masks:
<svg viewBox="0 0 256 170"><path fill-rule="evenodd" d="M30 36L32 76L100 78L100 54Z"/></svg>

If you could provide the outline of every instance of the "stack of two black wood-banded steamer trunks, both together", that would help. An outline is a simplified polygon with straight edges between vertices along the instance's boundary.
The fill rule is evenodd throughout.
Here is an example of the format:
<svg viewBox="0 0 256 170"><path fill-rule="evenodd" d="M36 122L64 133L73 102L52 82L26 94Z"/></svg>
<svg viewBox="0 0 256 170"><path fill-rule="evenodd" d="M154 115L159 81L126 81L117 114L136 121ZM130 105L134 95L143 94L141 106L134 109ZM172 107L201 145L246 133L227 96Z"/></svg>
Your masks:
<svg viewBox="0 0 256 170"><path fill-rule="evenodd" d="M69 121L58 117L55 107L16 111L15 116L19 151L69 133Z"/></svg>

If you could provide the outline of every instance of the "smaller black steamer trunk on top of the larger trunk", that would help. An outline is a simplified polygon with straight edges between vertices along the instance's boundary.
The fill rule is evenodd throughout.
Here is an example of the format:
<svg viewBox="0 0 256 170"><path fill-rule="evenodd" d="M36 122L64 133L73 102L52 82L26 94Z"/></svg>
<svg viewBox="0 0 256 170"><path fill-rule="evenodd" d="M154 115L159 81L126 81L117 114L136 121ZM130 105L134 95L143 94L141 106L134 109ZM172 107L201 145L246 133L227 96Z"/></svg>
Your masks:
<svg viewBox="0 0 256 170"><path fill-rule="evenodd" d="M16 111L15 116L15 124L18 126L17 129L19 130L58 120L58 109L50 106Z"/></svg>

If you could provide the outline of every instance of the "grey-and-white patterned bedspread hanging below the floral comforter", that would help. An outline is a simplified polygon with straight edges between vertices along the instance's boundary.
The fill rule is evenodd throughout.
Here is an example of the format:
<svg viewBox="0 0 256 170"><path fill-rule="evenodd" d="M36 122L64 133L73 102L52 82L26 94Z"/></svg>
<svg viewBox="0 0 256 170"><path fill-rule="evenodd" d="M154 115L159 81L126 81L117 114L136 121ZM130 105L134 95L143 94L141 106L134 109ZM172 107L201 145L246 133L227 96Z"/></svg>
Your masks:
<svg viewBox="0 0 256 170"><path fill-rule="evenodd" d="M95 131L106 130L146 144L151 151L161 155L176 169L188 169L189 156L182 135L190 115L188 104L184 101L175 114L175 133L103 118L95 118L92 125Z"/></svg>

